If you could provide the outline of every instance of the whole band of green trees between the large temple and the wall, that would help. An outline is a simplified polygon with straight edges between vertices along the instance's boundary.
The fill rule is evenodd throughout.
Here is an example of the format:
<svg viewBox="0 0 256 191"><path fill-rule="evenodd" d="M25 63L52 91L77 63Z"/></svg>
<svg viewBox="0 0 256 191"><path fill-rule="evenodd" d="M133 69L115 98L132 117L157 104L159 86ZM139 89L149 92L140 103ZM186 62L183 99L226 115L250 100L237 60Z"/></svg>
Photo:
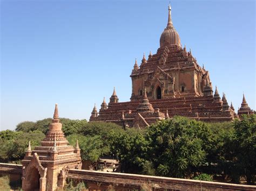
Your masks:
<svg viewBox="0 0 256 191"><path fill-rule="evenodd" d="M228 176L255 183L256 115L241 121L204 123L184 117L158 121L145 129L123 129L104 122L60 118L71 145L78 139L83 160L115 155L122 172L176 178ZM0 162L19 163L31 141L40 145L51 118L22 122L15 131L0 131ZM196 178L198 179L198 178ZM201 178L200 178L201 179ZM209 179L207 176L205 179Z"/></svg>

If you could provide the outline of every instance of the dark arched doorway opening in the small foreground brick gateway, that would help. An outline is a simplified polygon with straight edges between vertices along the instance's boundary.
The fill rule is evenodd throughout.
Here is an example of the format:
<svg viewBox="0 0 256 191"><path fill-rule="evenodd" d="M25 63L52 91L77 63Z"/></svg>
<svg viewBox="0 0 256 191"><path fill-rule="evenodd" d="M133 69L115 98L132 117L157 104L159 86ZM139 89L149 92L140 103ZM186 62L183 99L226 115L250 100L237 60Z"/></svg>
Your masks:
<svg viewBox="0 0 256 191"><path fill-rule="evenodd" d="M40 174L36 167L32 167L28 172L27 181L29 183L28 190L39 190L40 189Z"/></svg>

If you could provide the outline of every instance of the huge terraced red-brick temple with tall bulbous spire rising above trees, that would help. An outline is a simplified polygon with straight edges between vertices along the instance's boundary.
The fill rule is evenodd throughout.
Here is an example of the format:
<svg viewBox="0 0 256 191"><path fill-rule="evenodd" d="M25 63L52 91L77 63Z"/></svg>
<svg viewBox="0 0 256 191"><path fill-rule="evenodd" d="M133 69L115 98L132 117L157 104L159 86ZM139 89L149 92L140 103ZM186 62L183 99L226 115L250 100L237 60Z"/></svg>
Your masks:
<svg viewBox="0 0 256 191"><path fill-rule="evenodd" d="M171 6L168 23L160 37L156 54L143 56L140 66L135 64L132 79L131 101L118 102L114 89L109 104L105 98L99 112L96 106L90 121L113 122L124 127L143 128L160 119L184 116L205 122L224 122L253 114L243 96L238 114L222 98L215 87L214 94L209 72L198 65L191 49L182 47L178 32L173 26Z"/></svg>

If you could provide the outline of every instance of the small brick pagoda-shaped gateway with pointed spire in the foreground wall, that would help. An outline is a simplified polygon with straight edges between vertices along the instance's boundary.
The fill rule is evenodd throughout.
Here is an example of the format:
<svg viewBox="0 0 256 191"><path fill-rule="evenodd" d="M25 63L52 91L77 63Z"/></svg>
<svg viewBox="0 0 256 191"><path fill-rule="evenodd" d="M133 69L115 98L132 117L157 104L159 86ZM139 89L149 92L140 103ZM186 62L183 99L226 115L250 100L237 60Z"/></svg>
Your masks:
<svg viewBox="0 0 256 191"><path fill-rule="evenodd" d="M22 165L24 191L62 189L66 180L66 171L70 168L81 169L78 142L73 148L66 140L62 132L62 124L59 123L57 104L49 131L41 142L41 146L31 151L29 142Z"/></svg>

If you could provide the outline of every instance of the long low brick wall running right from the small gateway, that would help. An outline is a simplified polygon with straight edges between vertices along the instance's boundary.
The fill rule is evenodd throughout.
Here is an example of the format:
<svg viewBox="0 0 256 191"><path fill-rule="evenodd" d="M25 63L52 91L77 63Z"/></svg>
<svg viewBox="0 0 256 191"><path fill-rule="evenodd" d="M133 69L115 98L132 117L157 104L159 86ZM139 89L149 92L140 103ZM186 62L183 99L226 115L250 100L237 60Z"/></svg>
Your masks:
<svg viewBox="0 0 256 191"><path fill-rule="evenodd" d="M106 189L111 186L115 190L140 189L154 190L256 190L256 186L237 185L232 183L208 182L188 179L166 178L125 173L107 173L70 169L68 177L72 180L83 180L90 189Z"/></svg>

